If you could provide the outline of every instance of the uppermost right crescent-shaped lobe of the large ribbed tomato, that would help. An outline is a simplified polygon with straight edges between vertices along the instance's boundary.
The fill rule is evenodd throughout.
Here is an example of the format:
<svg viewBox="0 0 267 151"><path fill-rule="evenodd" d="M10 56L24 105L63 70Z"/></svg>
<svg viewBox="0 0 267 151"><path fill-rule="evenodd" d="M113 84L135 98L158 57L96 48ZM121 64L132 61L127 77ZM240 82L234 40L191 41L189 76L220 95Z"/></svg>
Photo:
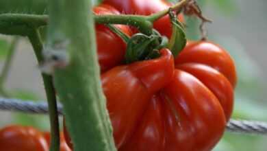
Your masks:
<svg viewBox="0 0 267 151"><path fill-rule="evenodd" d="M236 66L227 51L218 45L209 41L190 41L175 58L175 65L190 62L200 63L218 70L231 82L233 88L236 87Z"/></svg>

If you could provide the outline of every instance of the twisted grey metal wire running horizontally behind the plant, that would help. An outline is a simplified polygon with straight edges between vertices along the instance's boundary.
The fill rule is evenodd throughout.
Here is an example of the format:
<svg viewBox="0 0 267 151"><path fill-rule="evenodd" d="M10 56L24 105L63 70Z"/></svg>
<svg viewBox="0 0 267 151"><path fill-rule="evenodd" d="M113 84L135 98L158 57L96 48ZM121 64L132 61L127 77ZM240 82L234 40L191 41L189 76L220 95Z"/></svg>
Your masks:
<svg viewBox="0 0 267 151"><path fill-rule="evenodd" d="M47 114L48 106L47 103L43 101L22 101L18 99L7 99L0 97L0 110ZM62 115L61 104L58 104L58 113ZM267 122L231 119L227 124L227 130L230 132L267 135Z"/></svg>

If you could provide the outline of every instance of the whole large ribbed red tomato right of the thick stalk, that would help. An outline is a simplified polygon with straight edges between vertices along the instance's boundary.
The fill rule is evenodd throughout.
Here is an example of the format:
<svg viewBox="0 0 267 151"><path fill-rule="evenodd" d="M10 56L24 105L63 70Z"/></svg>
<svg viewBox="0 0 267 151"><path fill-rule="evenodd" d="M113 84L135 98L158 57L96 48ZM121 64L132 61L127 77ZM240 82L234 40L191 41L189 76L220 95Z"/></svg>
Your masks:
<svg viewBox="0 0 267 151"><path fill-rule="evenodd" d="M168 50L161 53L158 59L115 67L102 75L116 147L212 150L233 109L236 68L231 56L205 41L188 43L175 63Z"/></svg>

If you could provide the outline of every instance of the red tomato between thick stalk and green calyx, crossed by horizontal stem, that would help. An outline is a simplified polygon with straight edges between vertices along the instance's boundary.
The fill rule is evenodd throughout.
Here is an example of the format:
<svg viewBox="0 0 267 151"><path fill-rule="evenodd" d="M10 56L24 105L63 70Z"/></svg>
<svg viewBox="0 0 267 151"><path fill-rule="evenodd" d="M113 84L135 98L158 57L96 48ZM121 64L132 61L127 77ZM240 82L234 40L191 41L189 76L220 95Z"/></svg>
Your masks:
<svg viewBox="0 0 267 151"><path fill-rule="evenodd" d="M97 15L103 14L120 14L118 10L110 5L99 5L94 7L94 13ZM121 30L126 35L131 36L131 29L126 25L115 25L118 30ZM97 52L101 72L105 72L112 67L120 65L124 60L126 43L120 36L112 32L105 25L96 25L97 35Z"/></svg>

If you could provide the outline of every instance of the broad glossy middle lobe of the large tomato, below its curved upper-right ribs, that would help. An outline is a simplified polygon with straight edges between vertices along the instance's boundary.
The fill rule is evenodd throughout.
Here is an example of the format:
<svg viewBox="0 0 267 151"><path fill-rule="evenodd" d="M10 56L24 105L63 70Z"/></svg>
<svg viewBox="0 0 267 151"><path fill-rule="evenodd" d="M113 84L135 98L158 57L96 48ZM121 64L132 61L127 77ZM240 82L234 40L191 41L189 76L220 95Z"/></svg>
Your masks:
<svg viewBox="0 0 267 151"><path fill-rule="evenodd" d="M207 151L225 130L216 97L193 75L175 70L173 80L153 96L133 137L119 151Z"/></svg>

